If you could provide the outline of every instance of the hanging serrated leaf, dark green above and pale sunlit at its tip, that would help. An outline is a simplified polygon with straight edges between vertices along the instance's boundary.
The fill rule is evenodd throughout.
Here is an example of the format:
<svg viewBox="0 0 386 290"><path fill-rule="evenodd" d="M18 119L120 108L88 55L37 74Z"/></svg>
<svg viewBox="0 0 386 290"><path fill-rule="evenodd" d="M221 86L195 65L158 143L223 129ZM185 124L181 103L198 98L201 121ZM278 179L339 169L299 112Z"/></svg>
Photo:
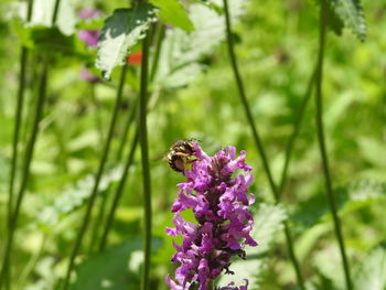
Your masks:
<svg viewBox="0 0 386 290"><path fill-rule="evenodd" d="M117 9L106 19L96 60L104 77L109 78L116 66L125 64L129 50L143 39L154 13L154 7L140 3L131 9Z"/></svg>

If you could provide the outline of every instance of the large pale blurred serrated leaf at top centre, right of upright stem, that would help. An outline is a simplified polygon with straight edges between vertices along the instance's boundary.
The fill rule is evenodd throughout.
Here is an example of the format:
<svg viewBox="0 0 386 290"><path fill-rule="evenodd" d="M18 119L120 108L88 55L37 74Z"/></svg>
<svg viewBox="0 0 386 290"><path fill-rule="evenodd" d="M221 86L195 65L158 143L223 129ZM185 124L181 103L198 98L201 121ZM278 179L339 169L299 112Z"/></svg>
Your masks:
<svg viewBox="0 0 386 290"><path fill-rule="evenodd" d="M244 12L245 0L230 0L233 23ZM199 62L213 53L215 45L225 39L224 15L203 4L190 7L194 31L169 30L162 44L156 82L168 88L189 84L205 68Z"/></svg>

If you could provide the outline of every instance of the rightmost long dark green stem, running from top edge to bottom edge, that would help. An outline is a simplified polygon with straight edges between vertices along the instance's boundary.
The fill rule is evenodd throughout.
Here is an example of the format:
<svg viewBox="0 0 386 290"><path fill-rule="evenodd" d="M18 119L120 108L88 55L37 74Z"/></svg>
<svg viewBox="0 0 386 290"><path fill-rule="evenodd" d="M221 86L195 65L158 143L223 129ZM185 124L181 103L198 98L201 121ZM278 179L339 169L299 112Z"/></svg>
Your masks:
<svg viewBox="0 0 386 290"><path fill-rule="evenodd" d="M319 149L320 154L322 159L322 168L323 168L323 174L324 174L324 181L325 181L325 189L328 192L329 203L330 203L330 210L332 213L333 222L334 222L334 230L335 236L337 238L339 248L342 256L342 264L343 264L343 270L344 270L344 277L346 282L346 289L351 290L352 281L350 277L350 267L349 261L346 257L346 251L344 247L344 239L342 235L341 229L341 222L337 215L337 207L335 202L335 196L332 187L332 178L329 167L329 158L326 153L326 144L325 144L325 138L324 138L324 128L323 128L323 93L322 93L322 85L323 85L323 60L324 60L324 45L325 45L325 30L326 30L326 22L328 22L328 2L326 0L321 1L321 9L320 9L320 36L319 36L319 53L318 53L318 69L317 69L317 94L315 94L315 104L317 104L317 114L315 114L315 122L317 122L317 131L318 131L318 141L319 141Z"/></svg>

